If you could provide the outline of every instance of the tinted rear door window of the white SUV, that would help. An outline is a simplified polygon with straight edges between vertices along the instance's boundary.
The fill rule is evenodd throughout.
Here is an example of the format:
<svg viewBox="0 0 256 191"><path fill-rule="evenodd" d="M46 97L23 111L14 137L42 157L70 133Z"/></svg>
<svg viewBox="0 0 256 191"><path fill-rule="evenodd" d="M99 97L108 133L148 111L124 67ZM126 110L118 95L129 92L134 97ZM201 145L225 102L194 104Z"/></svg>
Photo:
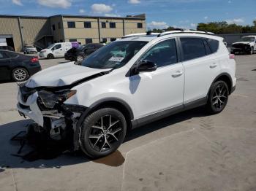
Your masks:
<svg viewBox="0 0 256 191"><path fill-rule="evenodd" d="M181 47L184 54L184 61L189 61L206 55L203 39L200 38L181 38Z"/></svg>

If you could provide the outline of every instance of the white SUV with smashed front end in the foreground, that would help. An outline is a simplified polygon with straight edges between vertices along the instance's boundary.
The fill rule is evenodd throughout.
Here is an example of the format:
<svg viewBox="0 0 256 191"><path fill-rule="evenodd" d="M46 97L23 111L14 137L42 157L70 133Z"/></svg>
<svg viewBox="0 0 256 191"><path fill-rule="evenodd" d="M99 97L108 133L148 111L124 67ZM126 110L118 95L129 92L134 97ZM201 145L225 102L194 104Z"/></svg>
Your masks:
<svg viewBox="0 0 256 191"><path fill-rule="evenodd" d="M236 87L223 39L197 31L140 34L112 42L81 65L40 71L18 90L18 111L50 139L89 157L114 152L129 128L206 105L222 112Z"/></svg>

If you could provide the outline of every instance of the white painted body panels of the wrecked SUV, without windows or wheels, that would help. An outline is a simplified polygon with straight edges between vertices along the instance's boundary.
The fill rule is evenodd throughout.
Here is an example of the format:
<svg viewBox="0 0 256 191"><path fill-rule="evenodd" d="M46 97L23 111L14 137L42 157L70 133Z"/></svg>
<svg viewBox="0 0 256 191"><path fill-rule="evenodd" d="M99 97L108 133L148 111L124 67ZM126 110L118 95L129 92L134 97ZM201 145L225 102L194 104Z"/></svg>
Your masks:
<svg viewBox="0 0 256 191"><path fill-rule="evenodd" d="M216 39L219 41L219 49L217 52L202 58L195 58L190 61L165 66L156 71L142 72L132 77L126 77L129 69L152 46L165 39L173 39L181 36ZM148 44L125 66L115 69L109 74L72 87L72 90L77 90L77 93L67 99L64 104L91 107L102 99L116 98L129 105L136 120L155 112L175 106L182 106L182 104L206 97L211 83L223 72L230 75L233 81L233 87L236 86L236 62L230 60L229 53L221 37L206 34L179 33L160 37L138 36L121 39L120 41L147 41ZM26 86L31 88L42 86L59 87L109 70L91 69L84 66L76 66L73 63L67 63L40 71L26 82ZM20 96L19 92L18 98ZM30 106L28 102L22 104ZM35 113L34 115L28 114L28 111L24 111L18 107L20 112L28 114L32 120L39 121L37 117L40 118L41 115L37 115L37 109L34 109L34 107L30 107L30 109L31 113Z"/></svg>

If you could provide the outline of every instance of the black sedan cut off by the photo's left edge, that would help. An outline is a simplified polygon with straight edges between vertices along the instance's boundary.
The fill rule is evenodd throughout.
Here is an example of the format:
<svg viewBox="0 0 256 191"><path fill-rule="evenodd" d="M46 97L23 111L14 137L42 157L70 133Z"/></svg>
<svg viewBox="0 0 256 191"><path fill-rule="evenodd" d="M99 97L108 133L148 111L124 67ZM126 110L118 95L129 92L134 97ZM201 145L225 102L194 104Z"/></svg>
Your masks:
<svg viewBox="0 0 256 191"><path fill-rule="evenodd" d="M40 70L38 57L0 50L0 80L22 82Z"/></svg>

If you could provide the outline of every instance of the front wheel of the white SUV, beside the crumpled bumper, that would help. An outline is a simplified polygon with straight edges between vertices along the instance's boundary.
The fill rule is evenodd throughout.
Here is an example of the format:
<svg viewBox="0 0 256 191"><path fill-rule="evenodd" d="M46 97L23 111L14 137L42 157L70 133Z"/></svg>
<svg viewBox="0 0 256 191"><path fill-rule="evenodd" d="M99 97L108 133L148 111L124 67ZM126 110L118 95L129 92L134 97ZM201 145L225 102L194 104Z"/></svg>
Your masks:
<svg viewBox="0 0 256 191"><path fill-rule="evenodd" d="M113 108L99 109L83 121L81 150L94 159L105 157L118 149L126 132L127 122L121 112Z"/></svg>

